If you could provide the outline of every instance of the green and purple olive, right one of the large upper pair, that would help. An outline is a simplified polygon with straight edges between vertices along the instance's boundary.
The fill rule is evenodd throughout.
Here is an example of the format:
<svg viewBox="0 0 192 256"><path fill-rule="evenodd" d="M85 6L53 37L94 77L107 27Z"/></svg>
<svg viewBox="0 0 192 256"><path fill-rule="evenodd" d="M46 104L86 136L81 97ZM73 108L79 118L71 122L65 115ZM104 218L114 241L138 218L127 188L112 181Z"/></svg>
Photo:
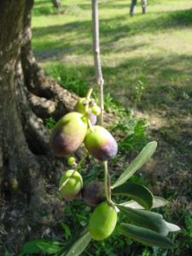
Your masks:
<svg viewBox="0 0 192 256"><path fill-rule="evenodd" d="M84 138L84 145L97 160L109 160L118 151L118 145L113 136L104 127L96 125L90 129Z"/></svg>

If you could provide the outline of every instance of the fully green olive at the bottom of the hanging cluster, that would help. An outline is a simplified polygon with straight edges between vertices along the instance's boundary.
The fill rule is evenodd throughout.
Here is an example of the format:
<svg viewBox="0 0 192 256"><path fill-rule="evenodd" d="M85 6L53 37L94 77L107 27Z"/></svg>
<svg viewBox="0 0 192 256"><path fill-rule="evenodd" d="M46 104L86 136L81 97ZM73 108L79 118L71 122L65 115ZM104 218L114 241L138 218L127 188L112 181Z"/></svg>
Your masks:
<svg viewBox="0 0 192 256"><path fill-rule="evenodd" d="M107 201L103 201L90 216L88 228L92 238L100 241L113 233L116 224L117 212Z"/></svg>

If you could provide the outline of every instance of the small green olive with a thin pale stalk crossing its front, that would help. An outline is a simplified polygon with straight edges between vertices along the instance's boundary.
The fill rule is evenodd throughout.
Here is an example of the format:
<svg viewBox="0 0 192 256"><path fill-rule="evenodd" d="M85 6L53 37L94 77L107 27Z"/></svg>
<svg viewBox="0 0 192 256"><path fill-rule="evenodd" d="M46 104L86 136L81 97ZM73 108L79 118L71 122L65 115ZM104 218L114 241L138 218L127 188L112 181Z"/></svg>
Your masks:
<svg viewBox="0 0 192 256"><path fill-rule="evenodd" d="M62 184L66 182L67 178L69 178L74 170L68 170L65 172L59 182L59 188L61 188ZM79 195L80 190L83 187L83 178L81 177L79 172L74 172L73 177L70 177L65 186L60 190L62 197L66 201L73 201L74 198Z"/></svg>

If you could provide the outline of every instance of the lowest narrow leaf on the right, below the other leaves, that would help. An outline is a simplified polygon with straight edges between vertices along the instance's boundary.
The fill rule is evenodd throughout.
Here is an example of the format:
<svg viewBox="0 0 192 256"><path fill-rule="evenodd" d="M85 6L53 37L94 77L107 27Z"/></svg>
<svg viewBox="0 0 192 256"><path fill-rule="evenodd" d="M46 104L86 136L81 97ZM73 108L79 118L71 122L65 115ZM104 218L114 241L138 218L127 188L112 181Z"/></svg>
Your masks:
<svg viewBox="0 0 192 256"><path fill-rule="evenodd" d="M152 230L137 227L132 224L120 224L117 228L120 234L136 241L142 242L147 246L172 248L174 245L166 236L162 236Z"/></svg>

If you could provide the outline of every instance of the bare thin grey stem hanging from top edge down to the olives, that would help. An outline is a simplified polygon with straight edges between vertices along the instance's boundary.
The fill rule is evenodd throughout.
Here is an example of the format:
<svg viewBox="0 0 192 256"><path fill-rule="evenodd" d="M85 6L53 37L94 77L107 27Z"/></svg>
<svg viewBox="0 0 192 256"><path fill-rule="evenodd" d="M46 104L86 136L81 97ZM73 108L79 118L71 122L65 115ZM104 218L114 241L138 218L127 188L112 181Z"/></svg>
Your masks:
<svg viewBox="0 0 192 256"><path fill-rule="evenodd" d="M102 66L100 58L100 44L99 44L99 18L98 18L98 3L97 0L92 0L92 26L93 26L93 55L96 68L96 84L100 86L100 124L103 125L103 112L104 112L104 101L103 101L103 85L104 80L102 78Z"/></svg>

